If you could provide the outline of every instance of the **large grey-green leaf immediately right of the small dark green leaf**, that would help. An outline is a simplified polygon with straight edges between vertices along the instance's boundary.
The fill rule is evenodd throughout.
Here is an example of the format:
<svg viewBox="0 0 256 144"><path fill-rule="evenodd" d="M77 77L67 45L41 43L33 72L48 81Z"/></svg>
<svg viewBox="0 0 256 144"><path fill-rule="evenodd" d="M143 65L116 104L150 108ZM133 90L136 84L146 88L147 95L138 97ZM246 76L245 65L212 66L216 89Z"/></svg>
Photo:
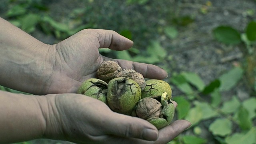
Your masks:
<svg viewBox="0 0 256 144"><path fill-rule="evenodd" d="M220 91L227 91L233 88L236 83L242 78L244 70L240 67L235 67L229 72L220 76Z"/></svg>

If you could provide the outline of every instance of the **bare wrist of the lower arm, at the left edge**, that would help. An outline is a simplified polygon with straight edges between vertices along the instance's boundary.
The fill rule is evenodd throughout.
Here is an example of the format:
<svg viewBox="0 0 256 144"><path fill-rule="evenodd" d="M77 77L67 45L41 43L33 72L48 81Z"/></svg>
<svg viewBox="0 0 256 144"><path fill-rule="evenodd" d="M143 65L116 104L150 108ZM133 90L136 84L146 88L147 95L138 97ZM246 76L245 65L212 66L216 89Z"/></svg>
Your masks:
<svg viewBox="0 0 256 144"><path fill-rule="evenodd" d="M0 91L0 143L42 138L46 121L37 96Z"/></svg>

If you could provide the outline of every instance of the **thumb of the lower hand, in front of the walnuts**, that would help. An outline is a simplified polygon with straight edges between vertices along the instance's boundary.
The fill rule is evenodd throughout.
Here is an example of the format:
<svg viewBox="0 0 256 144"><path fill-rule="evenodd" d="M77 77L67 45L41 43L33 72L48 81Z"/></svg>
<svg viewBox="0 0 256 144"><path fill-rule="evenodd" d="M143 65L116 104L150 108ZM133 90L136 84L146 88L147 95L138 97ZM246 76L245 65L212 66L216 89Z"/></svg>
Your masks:
<svg viewBox="0 0 256 144"><path fill-rule="evenodd" d="M157 140L158 130L146 120L123 114L113 113L106 133L126 138Z"/></svg>

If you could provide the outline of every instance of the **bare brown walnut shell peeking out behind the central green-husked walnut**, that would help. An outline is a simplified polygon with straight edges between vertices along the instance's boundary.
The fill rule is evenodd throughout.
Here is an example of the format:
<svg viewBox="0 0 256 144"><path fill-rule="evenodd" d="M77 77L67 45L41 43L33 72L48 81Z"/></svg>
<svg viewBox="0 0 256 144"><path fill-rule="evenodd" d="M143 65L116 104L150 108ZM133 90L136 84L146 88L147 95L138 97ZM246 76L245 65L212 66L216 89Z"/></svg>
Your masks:
<svg viewBox="0 0 256 144"><path fill-rule="evenodd" d="M140 86L141 90L144 90L146 86L146 82L142 74L136 72L135 70L125 68L121 71L120 74L117 75L118 77L130 78L137 82Z"/></svg>

